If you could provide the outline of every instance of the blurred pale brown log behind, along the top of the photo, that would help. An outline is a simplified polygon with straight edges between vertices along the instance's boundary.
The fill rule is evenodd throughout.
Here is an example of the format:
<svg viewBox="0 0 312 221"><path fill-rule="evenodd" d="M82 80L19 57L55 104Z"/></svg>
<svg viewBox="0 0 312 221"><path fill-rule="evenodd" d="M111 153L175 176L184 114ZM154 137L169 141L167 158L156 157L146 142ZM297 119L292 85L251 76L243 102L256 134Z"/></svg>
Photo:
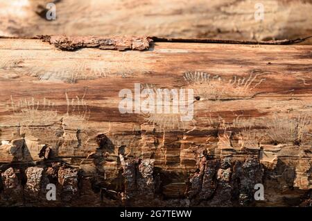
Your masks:
<svg viewBox="0 0 312 221"><path fill-rule="evenodd" d="M56 19L48 21L51 2ZM10 0L0 1L0 35L284 40L312 34L311 11L311 0Z"/></svg>

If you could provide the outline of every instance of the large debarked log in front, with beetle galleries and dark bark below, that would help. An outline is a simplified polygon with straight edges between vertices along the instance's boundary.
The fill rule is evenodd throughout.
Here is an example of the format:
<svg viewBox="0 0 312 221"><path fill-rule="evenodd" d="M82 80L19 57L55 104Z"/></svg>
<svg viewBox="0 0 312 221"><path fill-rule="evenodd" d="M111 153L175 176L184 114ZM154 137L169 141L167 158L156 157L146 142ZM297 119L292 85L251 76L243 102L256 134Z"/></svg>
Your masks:
<svg viewBox="0 0 312 221"><path fill-rule="evenodd" d="M0 39L0 204L311 206L311 51ZM186 92L191 118L144 113L141 92L157 89Z"/></svg>

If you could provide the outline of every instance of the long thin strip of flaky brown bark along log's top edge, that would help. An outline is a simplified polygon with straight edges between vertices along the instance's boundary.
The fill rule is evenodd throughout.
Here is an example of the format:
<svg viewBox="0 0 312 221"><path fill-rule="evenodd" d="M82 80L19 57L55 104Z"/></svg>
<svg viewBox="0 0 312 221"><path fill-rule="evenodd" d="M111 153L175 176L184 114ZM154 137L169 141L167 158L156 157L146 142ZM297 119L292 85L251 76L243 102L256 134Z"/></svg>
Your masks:
<svg viewBox="0 0 312 221"><path fill-rule="evenodd" d="M42 35L38 37L63 51L74 51L76 49L95 47L103 50L137 50L144 51L150 47L150 38L140 37L114 37L114 38L101 38L101 37L69 37L64 35Z"/></svg>

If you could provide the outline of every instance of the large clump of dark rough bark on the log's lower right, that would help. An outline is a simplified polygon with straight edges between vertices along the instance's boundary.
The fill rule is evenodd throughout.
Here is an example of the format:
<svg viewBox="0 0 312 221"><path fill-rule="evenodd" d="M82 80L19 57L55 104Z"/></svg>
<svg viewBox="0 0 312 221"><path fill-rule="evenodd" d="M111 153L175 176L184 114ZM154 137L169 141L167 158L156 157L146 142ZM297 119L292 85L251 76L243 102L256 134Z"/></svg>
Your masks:
<svg viewBox="0 0 312 221"><path fill-rule="evenodd" d="M263 169L257 159L245 161L230 157L207 160L188 181L187 197L192 204L209 206L248 206L254 201L254 186L262 183Z"/></svg>

